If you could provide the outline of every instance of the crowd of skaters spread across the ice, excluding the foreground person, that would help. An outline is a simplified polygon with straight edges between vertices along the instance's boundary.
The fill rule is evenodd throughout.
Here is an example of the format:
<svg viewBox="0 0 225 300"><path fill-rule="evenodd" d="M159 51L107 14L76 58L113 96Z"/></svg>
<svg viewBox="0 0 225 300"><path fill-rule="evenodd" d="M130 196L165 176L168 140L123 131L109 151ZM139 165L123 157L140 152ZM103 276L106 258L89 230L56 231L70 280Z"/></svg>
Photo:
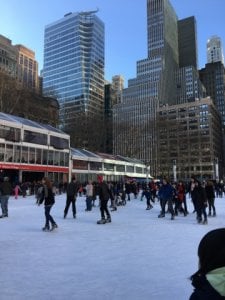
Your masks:
<svg viewBox="0 0 225 300"><path fill-rule="evenodd" d="M46 189L47 185L47 189ZM8 217L8 198L14 194L15 199L18 196L26 197L26 195L34 194L37 199L37 204L45 203L50 206L48 199L51 194L51 205L54 204L55 195L66 193L66 204L64 209L64 218L67 217L69 207L72 207L73 218L76 218L76 198L77 196L86 197L86 211L91 211L95 206L96 199L99 200L101 219L98 224L111 222L111 214L108 209L110 201L111 211L117 210L120 205L126 205L127 201L131 200L131 194L134 199L140 195L140 200L146 199L146 210L151 210L156 201L160 203L161 211L159 218L164 218L168 212L171 220L174 220L179 214L185 217L189 214L187 208L187 195L191 197L193 204L193 213L196 214L196 219L199 224L207 224L208 217L216 216L215 197L222 197L225 193L224 184L222 181L213 182L211 180L200 182L195 177L192 177L187 183L178 181L177 183L169 182L167 178L161 181L150 180L149 182L136 182L127 180L125 182L106 182L103 176L97 176L97 181L89 180L87 183L79 183L75 177L72 177L71 182L66 184L56 184L48 178L33 184L23 183L16 184L14 187L10 183L8 177L4 177L0 183L0 200L2 215L1 218ZM29 192L27 190L29 189ZM48 193L47 193L48 190ZM50 230L49 222L53 225L50 216L50 209L45 210L47 219L44 230ZM56 227L55 225L53 226Z"/></svg>

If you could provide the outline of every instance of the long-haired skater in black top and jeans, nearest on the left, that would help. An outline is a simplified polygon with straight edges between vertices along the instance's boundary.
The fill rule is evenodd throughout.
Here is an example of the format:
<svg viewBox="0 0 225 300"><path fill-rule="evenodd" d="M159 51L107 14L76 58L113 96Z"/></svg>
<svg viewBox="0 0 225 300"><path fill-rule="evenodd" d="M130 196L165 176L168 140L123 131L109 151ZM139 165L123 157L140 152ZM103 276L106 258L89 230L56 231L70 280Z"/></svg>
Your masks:
<svg viewBox="0 0 225 300"><path fill-rule="evenodd" d="M42 194L42 198L39 201L39 205L44 202L44 206L45 206L45 226L42 228L42 230L52 231L58 227L55 220L50 215L51 208L55 203L55 195L52 191L52 183L47 177L44 177L42 179L42 184L43 184L43 194ZM51 223L52 225L51 229L49 227L49 223Z"/></svg>

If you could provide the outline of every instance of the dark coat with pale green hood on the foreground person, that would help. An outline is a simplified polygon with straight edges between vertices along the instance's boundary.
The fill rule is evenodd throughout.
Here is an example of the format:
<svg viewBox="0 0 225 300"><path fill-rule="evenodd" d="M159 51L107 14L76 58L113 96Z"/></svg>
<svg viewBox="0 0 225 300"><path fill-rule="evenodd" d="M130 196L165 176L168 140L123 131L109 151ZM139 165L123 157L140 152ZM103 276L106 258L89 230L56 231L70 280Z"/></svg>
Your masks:
<svg viewBox="0 0 225 300"><path fill-rule="evenodd" d="M218 279L215 277L215 273L218 270L214 270L213 272L210 272L206 275L200 275L198 273L194 274L192 276L192 285L194 286L195 290L192 293L191 297L189 300L222 300L225 299L225 285L224 285L224 274L222 272L221 276L219 276L219 282ZM218 273L218 272L217 272ZM213 285L209 282L208 276L211 276L211 279L214 277L214 281L216 280L217 283L219 283L219 286L221 288L221 283L222 283L222 289L221 292L219 293L216 288L213 287ZM224 296L221 296L224 295Z"/></svg>

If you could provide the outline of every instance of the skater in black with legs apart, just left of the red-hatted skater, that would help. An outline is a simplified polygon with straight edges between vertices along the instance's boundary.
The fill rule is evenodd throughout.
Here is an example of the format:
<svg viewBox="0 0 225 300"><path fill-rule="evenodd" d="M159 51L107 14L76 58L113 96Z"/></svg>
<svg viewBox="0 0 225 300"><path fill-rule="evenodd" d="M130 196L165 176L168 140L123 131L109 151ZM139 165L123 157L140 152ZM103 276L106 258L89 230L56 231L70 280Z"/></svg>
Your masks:
<svg viewBox="0 0 225 300"><path fill-rule="evenodd" d="M79 185L76 182L76 178L72 177L71 182L67 185L66 188L66 206L64 209L64 219L67 216L69 207L70 207L70 203L72 203L72 211L73 211L73 218L76 218L76 197L77 197L77 192L79 189Z"/></svg>

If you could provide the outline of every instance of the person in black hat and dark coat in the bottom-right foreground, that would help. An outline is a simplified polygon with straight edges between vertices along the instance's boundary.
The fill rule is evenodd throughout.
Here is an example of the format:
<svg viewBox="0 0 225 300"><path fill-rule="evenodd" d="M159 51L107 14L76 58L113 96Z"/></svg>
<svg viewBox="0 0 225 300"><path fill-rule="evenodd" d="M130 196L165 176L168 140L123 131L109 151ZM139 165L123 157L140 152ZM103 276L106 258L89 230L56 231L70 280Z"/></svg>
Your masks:
<svg viewBox="0 0 225 300"><path fill-rule="evenodd" d="M199 270L191 276L189 300L225 299L225 228L208 232L198 246Z"/></svg>

